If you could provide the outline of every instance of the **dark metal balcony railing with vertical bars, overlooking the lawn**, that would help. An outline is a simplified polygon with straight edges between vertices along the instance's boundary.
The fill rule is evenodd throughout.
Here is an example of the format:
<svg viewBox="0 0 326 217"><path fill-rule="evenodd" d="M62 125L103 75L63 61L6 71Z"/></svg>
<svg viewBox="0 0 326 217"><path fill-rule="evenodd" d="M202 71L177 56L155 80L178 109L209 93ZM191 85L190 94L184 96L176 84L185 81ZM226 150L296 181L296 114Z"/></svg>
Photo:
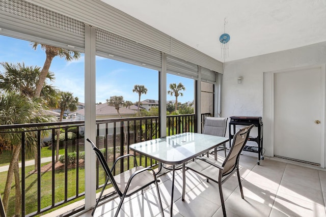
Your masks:
<svg viewBox="0 0 326 217"><path fill-rule="evenodd" d="M201 115L202 124L205 116L209 116L209 114ZM197 132L196 126L195 114L167 116L167 135ZM59 130L61 131L61 161L58 163L56 162L56 140ZM130 144L159 138L160 136L158 116L96 120L96 130L96 145L105 153L104 156L109 166L110 163L112 165L116 158L129 153ZM84 121L0 126L0 132L19 134L21 138L21 144L19 145L22 147L20 157L22 216L35 216L49 212L59 206L65 206L67 203L77 201L85 195L84 131ZM37 160L35 162L38 169L35 172L35 155L29 153L29 148L26 146L26 137L31 135L34 135L35 141L37 141ZM46 151L49 160L41 163L42 160L46 159L42 157ZM139 164L144 167L158 165L158 162L147 159L141 154L132 154L137 157ZM28 165L29 158L33 160L31 166ZM59 167L57 167L58 164L60 164ZM98 163L96 165L96 187L100 189L104 184L105 175ZM116 167L114 173L124 171L129 166L133 165L129 165L127 161L121 164L120 167ZM5 181L2 180L2 182ZM14 207L14 197L10 198L9 207ZM80 207L80 209L83 208ZM77 212L80 209L74 211ZM8 209L7 215L12 216L13 214L13 208Z"/></svg>

